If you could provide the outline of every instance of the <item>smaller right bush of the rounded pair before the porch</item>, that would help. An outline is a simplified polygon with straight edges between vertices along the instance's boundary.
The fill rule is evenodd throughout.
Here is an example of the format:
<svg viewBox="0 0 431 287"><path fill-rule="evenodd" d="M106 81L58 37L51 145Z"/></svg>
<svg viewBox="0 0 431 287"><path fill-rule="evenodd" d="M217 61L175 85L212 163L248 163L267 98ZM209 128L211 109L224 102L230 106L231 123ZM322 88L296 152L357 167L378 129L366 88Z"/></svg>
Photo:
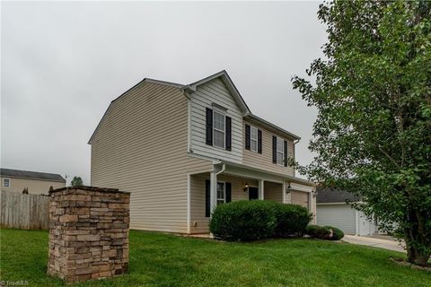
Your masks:
<svg viewBox="0 0 431 287"><path fill-rule="evenodd" d="M277 218L276 237L301 237L312 220L312 214L301 205L274 203L274 212Z"/></svg>

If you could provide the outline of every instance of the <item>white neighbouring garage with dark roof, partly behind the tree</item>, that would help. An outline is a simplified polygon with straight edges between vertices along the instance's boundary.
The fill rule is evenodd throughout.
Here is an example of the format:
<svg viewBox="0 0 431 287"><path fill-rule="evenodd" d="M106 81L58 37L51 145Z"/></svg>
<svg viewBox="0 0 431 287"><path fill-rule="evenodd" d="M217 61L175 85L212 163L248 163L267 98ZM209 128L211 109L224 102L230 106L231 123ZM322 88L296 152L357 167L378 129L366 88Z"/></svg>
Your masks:
<svg viewBox="0 0 431 287"><path fill-rule="evenodd" d="M378 228L374 221L367 220L363 213L356 211L347 201L358 202L359 198L346 191L318 187L317 224L337 227L346 234L376 233Z"/></svg>

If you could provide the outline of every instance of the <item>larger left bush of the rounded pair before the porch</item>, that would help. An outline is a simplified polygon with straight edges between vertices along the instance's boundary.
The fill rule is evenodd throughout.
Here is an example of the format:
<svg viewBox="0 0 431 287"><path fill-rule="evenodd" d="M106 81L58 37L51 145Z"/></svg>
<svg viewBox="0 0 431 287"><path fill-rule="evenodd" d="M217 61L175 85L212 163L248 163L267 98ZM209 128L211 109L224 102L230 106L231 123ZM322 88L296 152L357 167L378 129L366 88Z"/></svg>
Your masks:
<svg viewBox="0 0 431 287"><path fill-rule="evenodd" d="M273 204L266 201L235 201L217 205L209 230L217 239L252 241L273 237L277 225Z"/></svg>

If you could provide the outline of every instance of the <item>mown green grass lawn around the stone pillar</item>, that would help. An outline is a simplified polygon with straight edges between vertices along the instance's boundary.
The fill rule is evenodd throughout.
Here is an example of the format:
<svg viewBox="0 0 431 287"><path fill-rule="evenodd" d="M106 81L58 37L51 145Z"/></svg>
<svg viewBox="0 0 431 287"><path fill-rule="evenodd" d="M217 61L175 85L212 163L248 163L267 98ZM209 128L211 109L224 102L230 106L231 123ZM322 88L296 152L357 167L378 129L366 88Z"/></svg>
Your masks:
<svg viewBox="0 0 431 287"><path fill-rule="evenodd" d="M226 243L130 232L129 274L74 286L431 286L431 274L394 265L397 252L340 242ZM1 230L1 279L58 286L46 275L48 232Z"/></svg>

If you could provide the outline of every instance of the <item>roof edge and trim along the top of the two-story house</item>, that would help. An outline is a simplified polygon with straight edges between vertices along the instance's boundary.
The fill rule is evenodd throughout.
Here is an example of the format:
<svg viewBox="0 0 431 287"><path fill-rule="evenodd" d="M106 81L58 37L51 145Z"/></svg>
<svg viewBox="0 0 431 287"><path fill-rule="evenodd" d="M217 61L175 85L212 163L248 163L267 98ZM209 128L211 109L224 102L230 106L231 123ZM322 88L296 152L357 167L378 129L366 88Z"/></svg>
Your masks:
<svg viewBox="0 0 431 287"><path fill-rule="evenodd" d="M165 82L165 81L160 81L160 80L154 80L154 79L149 79L149 78L145 78L144 80L142 80L139 83L136 83L136 85L134 85L133 87L131 87L130 89L128 89L128 91L134 89L136 86L138 86L141 83L158 83L158 84L163 84L163 85L167 85L167 86L171 86L174 88L178 88L182 91L187 91L189 93L193 93L194 91L196 91L196 88L203 84L203 83L207 83L209 81L212 81L216 78L220 78L222 80L222 82L226 85L227 89L232 93L233 95L233 99L236 101L236 103L238 104L238 107L240 107L240 109L242 110L243 116L246 117L248 120L254 121L254 122L258 122L260 125L263 125L265 127L267 127L269 130L274 130L277 133L281 133L283 135L287 135L288 137L292 138L293 140L300 140L301 137L299 137L298 135L292 134L290 132L287 132L286 129L276 126L272 123L269 123L267 120L255 116L251 113L251 110L249 109L249 107L247 106L245 100L242 98L242 95L240 94L240 92L238 91L238 89L236 89L235 85L233 84L233 81L231 80L231 77L229 76L229 74L227 74L227 72L225 70L220 71L216 74L212 74L210 76L207 76L206 78L199 80L198 82L195 83L190 83L188 85L183 85L180 83L171 83L171 82ZM121 98L123 95L125 95L128 91L123 92L117 99ZM101 126L101 122L103 121L103 118L108 114L108 111L110 110L112 103L115 101L112 100L110 102L110 106L108 107L108 109L106 109L105 113L103 114L103 117L101 117L101 121L99 122L99 124L96 126L96 128L94 129L94 131L92 132L92 136L90 137L90 139L88 140L88 143L91 144L92 143L92 138L94 137L94 135L96 135L97 130L99 129L99 127Z"/></svg>

